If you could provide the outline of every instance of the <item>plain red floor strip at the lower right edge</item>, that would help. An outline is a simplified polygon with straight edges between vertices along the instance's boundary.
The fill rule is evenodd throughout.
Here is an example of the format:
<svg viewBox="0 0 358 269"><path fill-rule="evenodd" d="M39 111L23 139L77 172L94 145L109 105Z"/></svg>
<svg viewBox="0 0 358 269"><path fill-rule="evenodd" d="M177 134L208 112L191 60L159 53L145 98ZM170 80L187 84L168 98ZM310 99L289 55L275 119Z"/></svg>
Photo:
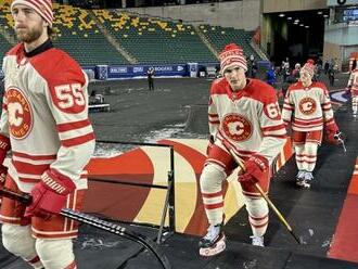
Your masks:
<svg viewBox="0 0 358 269"><path fill-rule="evenodd" d="M331 258L358 262L358 158L330 252Z"/></svg>

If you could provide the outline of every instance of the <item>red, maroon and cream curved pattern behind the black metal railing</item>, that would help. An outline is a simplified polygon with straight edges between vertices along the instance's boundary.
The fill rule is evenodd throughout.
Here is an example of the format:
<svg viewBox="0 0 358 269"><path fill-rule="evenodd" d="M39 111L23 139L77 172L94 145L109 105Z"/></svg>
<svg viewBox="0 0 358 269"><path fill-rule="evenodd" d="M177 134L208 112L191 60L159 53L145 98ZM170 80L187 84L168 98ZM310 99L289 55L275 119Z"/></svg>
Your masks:
<svg viewBox="0 0 358 269"><path fill-rule="evenodd" d="M170 139L158 143L170 144L175 150L176 231L203 234L207 222L200 195L199 179L205 161L207 140ZM291 141L281 152L279 169L292 155ZM167 148L141 146L114 157L91 159L90 178L167 184L170 170L170 152ZM225 214L228 221L242 206L241 187L235 172L225 185ZM126 221L158 225L164 206L165 190L129 187L89 181L85 212ZM168 219L166 219L166 225Z"/></svg>

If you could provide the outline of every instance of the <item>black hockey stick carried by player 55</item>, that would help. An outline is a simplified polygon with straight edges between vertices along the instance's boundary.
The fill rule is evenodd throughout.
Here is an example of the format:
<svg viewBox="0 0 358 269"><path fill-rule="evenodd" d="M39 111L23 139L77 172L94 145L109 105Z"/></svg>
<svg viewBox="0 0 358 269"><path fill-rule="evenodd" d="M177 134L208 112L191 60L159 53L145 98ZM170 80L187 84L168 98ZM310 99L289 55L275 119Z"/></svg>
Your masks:
<svg viewBox="0 0 358 269"><path fill-rule="evenodd" d="M4 196L4 197L9 197L9 198L18 201L25 205L29 205L31 203L31 198L33 198L29 194L13 192L7 188L0 189L0 196ZM89 214L75 212L69 208L62 209L60 215L63 217L71 218L71 219L77 220L79 222L95 227L100 230L104 230L104 231L117 234L119 236L133 241L138 244L141 244L156 257L156 259L161 262L161 265L164 269L171 268L168 258L158 248L158 246L154 242L152 242L152 240L145 238L142 234L136 233L133 231L128 231L127 228L125 228L125 227L100 219L100 218L91 216Z"/></svg>

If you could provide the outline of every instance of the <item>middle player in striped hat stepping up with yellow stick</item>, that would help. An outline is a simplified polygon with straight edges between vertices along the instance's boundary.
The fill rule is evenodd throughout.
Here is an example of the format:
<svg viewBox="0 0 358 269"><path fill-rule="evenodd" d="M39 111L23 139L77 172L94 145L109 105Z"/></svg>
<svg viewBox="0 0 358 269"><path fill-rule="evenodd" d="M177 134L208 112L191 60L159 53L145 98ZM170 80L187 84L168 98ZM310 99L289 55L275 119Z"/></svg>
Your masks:
<svg viewBox="0 0 358 269"><path fill-rule="evenodd" d="M200 254L212 256L226 247L223 226L223 180L236 164L233 151L244 161L246 172L241 183L253 245L264 246L268 226L268 206L254 188L256 182L268 192L270 164L286 141L274 89L245 76L243 51L234 43L220 53L222 78L210 89L208 104L208 156L200 179L203 203L209 222L207 234L200 240Z"/></svg>

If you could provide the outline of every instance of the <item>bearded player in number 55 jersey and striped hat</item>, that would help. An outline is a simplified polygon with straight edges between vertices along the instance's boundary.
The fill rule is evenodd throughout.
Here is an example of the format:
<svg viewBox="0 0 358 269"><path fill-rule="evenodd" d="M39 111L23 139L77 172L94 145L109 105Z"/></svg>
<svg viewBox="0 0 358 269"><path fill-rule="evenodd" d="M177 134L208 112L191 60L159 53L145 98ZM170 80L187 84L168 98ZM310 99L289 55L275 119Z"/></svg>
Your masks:
<svg viewBox="0 0 358 269"><path fill-rule="evenodd" d="M81 174L94 149L88 79L52 46L51 0L14 0L11 13L21 42L3 60L0 163L11 148L5 187L33 202L2 200L2 244L34 268L73 269L78 225L59 213L80 209L87 188Z"/></svg>

